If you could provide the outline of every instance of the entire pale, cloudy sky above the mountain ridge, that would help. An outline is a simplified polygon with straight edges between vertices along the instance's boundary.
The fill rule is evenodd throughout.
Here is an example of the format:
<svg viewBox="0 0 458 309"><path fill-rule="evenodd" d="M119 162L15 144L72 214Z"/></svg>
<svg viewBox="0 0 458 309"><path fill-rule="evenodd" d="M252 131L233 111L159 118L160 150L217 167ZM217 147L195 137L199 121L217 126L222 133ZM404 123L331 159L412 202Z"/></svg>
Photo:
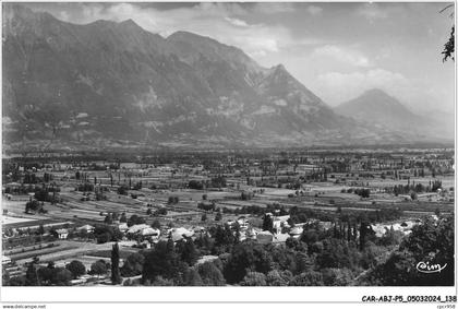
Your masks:
<svg viewBox="0 0 458 309"><path fill-rule="evenodd" d="M413 110L454 108L454 62L441 51L447 3L27 3L84 24L132 19L162 36L190 31L285 67L330 106L378 87Z"/></svg>

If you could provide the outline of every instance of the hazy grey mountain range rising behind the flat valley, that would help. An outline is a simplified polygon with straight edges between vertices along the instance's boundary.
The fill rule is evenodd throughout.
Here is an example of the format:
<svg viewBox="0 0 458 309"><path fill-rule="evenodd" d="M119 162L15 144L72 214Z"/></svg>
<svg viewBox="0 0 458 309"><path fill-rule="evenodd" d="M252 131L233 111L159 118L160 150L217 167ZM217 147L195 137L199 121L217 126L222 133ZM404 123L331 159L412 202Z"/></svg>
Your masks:
<svg viewBox="0 0 458 309"><path fill-rule="evenodd" d="M395 126L417 120L398 117L407 111L389 96L370 92L333 110L284 66L263 68L237 47L189 32L162 37L132 20L71 24L19 4L3 5L2 26L4 148L376 144L432 136ZM374 126L386 111L382 98L398 109Z"/></svg>

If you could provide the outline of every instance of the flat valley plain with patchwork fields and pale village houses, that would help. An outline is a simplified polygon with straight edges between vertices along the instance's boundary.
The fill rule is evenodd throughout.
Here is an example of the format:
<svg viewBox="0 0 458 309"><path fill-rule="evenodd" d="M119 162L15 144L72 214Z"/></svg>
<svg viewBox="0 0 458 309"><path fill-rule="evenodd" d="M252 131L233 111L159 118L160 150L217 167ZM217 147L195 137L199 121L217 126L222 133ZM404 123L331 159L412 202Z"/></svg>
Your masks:
<svg viewBox="0 0 458 309"><path fill-rule="evenodd" d="M354 243L401 239L454 214L454 164L453 150L431 148L5 158L3 282L17 284L31 264L70 272L77 264L84 272L62 271L56 284L111 284L114 243L119 284L129 285L145 276L125 271L133 257L167 241L226 246L218 237L227 233L233 243L285 248L311 230ZM190 266L225 250L197 250Z"/></svg>

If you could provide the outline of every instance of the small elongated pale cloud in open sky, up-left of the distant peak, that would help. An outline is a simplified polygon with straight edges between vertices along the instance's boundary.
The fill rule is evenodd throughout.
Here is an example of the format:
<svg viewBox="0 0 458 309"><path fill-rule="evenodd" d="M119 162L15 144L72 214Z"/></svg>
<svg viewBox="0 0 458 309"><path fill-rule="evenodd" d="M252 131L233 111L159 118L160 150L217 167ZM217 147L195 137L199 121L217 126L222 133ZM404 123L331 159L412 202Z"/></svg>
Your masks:
<svg viewBox="0 0 458 309"><path fill-rule="evenodd" d="M326 57L354 67L369 68L373 64L362 52L336 45L325 45L315 48L314 57Z"/></svg>

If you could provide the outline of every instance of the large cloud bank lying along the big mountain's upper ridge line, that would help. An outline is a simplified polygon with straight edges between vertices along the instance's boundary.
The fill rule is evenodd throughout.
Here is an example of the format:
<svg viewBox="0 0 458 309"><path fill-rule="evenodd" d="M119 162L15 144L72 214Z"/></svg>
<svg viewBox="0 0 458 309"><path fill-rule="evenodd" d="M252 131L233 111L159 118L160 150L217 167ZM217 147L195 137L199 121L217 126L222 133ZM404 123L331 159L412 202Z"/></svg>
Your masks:
<svg viewBox="0 0 458 309"><path fill-rule="evenodd" d="M292 3L239 3L202 2L192 7L159 10L135 3L81 3L81 14L67 16L67 21L79 24L96 20L121 22L132 19L141 27L165 37L177 31L189 31L209 36L220 43L241 48L248 55L263 60L291 46L308 43L293 38L290 29L279 24L250 24L251 14L286 13L293 10ZM313 39L312 39L313 40ZM269 66L273 63L269 63ZM275 63L276 64L276 63Z"/></svg>

